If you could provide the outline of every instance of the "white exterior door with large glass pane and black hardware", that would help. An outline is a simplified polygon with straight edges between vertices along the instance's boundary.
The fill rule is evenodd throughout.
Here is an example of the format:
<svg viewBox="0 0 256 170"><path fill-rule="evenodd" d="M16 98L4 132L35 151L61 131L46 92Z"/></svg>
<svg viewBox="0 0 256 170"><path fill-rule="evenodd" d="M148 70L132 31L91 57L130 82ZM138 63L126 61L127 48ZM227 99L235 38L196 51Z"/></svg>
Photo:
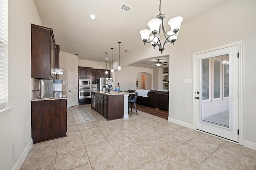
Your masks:
<svg viewBox="0 0 256 170"><path fill-rule="evenodd" d="M196 129L238 142L238 45L196 55Z"/></svg>

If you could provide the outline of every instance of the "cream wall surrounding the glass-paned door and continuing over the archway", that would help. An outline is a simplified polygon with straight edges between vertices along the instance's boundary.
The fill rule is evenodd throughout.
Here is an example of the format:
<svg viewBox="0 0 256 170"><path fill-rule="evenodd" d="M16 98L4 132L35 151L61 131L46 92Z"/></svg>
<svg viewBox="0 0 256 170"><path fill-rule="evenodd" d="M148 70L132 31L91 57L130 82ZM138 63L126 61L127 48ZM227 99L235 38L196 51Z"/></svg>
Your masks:
<svg viewBox="0 0 256 170"><path fill-rule="evenodd" d="M166 45L163 55L170 56L169 117L192 124L192 53L212 47L244 41L243 46L243 124L244 141L256 145L255 96L256 79L256 1L230 0L198 18L183 23L175 45ZM138 41L140 41L138 39ZM122 58L121 65L140 59L158 56L159 51L143 45ZM118 79L118 77L116 77Z"/></svg>

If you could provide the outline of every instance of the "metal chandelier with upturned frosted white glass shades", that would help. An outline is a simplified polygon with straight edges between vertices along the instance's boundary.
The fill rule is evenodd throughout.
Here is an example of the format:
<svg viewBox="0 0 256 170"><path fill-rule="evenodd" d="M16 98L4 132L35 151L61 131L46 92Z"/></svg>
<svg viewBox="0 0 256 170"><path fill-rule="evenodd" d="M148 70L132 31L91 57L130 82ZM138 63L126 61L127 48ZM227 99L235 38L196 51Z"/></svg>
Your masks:
<svg viewBox="0 0 256 170"><path fill-rule="evenodd" d="M177 39L178 32L180 31L181 22L183 21L183 18L181 16L176 16L170 19L168 21L168 25L170 25L171 30L166 33L164 30L164 17L165 15L161 13L161 0L160 0L159 14L156 16L156 18L148 22L148 26L150 30L145 29L140 31L141 39L144 42L144 45L146 43L151 43L154 48L156 47L156 45L158 45L158 48L159 48L158 50L161 51L161 54L163 53L164 45L167 42L174 44L174 42ZM159 36L160 30L161 30L161 23L162 23L162 30L165 37L165 41L163 44L161 43L160 36ZM150 36L151 33L153 34L152 36ZM148 38L150 39L149 42L148 42Z"/></svg>

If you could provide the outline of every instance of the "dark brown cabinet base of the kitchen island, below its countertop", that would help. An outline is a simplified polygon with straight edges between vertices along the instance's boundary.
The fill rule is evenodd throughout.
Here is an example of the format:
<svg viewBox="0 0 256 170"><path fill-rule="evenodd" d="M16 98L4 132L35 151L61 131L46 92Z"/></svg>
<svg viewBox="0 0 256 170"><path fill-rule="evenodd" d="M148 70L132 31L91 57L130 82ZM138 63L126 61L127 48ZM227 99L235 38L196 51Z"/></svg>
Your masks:
<svg viewBox="0 0 256 170"><path fill-rule="evenodd" d="M124 118L124 95L95 93L95 110L110 120Z"/></svg>

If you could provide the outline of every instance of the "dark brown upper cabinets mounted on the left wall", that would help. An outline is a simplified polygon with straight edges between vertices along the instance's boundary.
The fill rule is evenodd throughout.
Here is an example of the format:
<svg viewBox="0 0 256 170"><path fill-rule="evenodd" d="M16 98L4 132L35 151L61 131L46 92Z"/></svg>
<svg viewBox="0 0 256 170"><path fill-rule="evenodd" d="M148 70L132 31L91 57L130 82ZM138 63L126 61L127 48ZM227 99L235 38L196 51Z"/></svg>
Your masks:
<svg viewBox="0 0 256 170"><path fill-rule="evenodd" d="M57 79L59 52L52 29L31 24L31 77Z"/></svg>

